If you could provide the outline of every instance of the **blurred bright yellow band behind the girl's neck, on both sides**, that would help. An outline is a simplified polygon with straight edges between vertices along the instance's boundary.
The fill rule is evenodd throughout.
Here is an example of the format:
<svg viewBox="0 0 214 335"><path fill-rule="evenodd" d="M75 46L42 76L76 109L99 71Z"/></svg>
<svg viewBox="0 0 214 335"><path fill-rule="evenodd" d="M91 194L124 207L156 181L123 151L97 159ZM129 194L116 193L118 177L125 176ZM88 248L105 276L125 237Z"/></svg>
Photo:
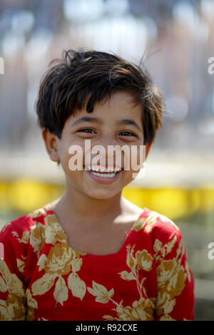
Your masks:
<svg viewBox="0 0 214 335"><path fill-rule="evenodd" d="M27 178L0 182L0 211L31 212L63 195L63 185L46 184ZM195 213L214 210L214 187L197 189L125 187L122 195L138 207L147 207L179 220Z"/></svg>

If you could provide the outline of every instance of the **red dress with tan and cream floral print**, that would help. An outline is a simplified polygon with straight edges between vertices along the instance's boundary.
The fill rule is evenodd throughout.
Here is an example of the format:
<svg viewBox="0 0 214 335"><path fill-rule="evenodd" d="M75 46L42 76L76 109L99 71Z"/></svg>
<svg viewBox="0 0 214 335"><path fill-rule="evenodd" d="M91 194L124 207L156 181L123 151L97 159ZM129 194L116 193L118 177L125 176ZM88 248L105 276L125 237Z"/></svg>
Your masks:
<svg viewBox="0 0 214 335"><path fill-rule="evenodd" d="M194 279L177 227L142 214L114 254L78 252L50 205L0 233L1 320L194 320Z"/></svg>

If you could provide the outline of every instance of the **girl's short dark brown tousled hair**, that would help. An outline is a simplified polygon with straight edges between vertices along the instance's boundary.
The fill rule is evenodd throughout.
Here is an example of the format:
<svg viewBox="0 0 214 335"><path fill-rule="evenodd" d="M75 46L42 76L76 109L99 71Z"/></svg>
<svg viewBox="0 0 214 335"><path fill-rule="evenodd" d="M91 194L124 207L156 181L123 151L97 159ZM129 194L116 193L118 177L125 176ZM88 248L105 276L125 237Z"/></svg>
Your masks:
<svg viewBox="0 0 214 335"><path fill-rule="evenodd" d="M36 100L38 124L61 138L63 125L86 103L92 113L95 103L111 98L116 92L130 93L133 102L142 106L143 144L154 140L162 128L165 105L161 91L153 85L146 68L115 54L101 51L63 50L61 59L54 59L41 80Z"/></svg>

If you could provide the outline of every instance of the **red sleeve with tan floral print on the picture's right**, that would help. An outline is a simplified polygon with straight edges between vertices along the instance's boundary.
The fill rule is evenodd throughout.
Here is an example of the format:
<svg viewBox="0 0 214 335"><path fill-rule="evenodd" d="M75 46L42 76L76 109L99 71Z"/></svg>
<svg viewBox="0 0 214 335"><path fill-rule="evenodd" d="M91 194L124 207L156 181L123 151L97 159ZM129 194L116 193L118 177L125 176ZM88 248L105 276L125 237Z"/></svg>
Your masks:
<svg viewBox="0 0 214 335"><path fill-rule="evenodd" d="M194 321L195 283L180 230L162 245L156 239L157 321Z"/></svg>

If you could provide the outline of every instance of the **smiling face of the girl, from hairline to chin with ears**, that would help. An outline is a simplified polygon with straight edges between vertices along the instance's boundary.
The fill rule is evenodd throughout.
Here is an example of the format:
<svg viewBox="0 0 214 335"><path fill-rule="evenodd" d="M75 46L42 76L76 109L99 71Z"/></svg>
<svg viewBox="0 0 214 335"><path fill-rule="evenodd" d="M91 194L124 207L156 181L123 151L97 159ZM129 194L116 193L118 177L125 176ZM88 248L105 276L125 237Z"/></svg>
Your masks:
<svg viewBox="0 0 214 335"><path fill-rule="evenodd" d="M87 113L85 109L78 110L75 115L71 115L64 124L61 139L56 135L43 130L43 138L51 160L61 161L62 168L66 175L67 187L74 187L88 197L94 199L110 199L123 190L133 180L133 173L138 171L132 170L131 147L132 145L143 145L143 124L141 105L133 106L131 95L124 92L118 92L111 96L110 100L102 103L96 103L93 113ZM130 152L130 169L123 170L125 155L121 151L120 167L121 172L115 176L106 175L103 172L101 176L97 172L85 170L86 163L85 142L91 141L91 150L95 145L102 145L105 150L106 166L108 165L108 145L123 145L129 148ZM71 154L68 153L72 145L78 145L82 148L83 167L82 170L71 170L69 160ZM147 153L151 143L147 145ZM98 153L91 153L91 163ZM113 166L116 166L116 154L113 153ZM137 155L138 156L138 155ZM98 161L97 165L101 162ZM139 164L139 160L138 160ZM108 165L109 166L109 165ZM118 166L118 164L117 164Z"/></svg>

